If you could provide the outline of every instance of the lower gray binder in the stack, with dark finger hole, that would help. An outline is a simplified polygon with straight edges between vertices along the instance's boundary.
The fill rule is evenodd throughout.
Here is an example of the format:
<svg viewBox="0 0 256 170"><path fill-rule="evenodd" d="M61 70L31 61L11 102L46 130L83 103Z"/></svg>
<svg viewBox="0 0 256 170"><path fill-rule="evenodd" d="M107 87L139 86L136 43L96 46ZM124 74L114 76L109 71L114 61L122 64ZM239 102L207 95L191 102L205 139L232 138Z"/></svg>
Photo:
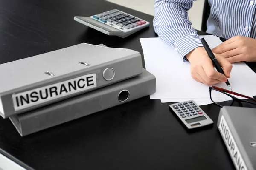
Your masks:
<svg viewBox="0 0 256 170"><path fill-rule="evenodd" d="M40 130L78 119L125 102L155 93L156 79L147 76L138 77L124 82L91 91L61 103L54 103L46 108L9 117L21 136L26 136Z"/></svg>

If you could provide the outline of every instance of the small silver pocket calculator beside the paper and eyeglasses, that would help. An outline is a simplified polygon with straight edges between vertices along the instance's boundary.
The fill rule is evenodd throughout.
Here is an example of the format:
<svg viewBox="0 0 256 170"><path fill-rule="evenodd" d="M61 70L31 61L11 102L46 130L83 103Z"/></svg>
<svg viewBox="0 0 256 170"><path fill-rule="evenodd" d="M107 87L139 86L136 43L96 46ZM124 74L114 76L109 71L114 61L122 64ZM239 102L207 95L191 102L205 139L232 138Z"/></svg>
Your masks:
<svg viewBox="0 0 256 170"><path fill-rule="evenodd" d="M213 124L212 119L209 118L194 100L178 102L169 105L169 108L183 122L187 129L195 129Z"/></svg>

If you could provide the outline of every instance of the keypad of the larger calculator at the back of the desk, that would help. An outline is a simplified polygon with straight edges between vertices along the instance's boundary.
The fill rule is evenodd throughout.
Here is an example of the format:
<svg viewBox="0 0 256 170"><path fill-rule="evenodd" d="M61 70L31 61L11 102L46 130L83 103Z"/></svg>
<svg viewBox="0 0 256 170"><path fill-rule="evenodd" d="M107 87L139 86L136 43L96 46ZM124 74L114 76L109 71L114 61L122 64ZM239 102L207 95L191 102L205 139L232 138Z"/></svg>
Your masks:
<svg viewBox="0 0 256 170"><path fill-rule="evenodd" d="M140 20L139 18L136 18L132 15L125 14L124 12L117 9L96 14L92 17L104 23L107 23L108 21L112 24L112 26L114 26L113 24L115 24L127 30L131 28L136 28L137 26L142 26L143 24L147 23L146 21Z"/></svg>

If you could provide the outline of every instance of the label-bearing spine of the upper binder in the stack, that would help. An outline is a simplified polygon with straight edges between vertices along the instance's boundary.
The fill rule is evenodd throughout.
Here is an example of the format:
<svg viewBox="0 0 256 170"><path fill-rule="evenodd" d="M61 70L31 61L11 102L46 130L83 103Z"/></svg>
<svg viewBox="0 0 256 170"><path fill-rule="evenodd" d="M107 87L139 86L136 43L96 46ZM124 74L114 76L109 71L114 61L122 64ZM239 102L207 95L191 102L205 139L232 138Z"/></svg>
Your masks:
<svg viewBox="0 0 256 170"><path fill-rule="evenodd" d="M103 74L104 74L104 71L106 68L113 69L114 76L112 79L106 79L106 77L103 77ZM58 82L48 82L47 84L44 84L44 85L30 85L29 87L26 88L26 90L24 90L24 88L22 88L22 89L19 89L19 91L15 91L15 92L13 91L13 92L5 93L2 95L4 98L4 100L2 99L2 102L4 102L3 106L5 106L5 108L4 108L4 112L0 111L2 113L1 116L3 118L7 118L7 117L15 115L15 114L24 113L26 111L33 110L35 108L49 105L51 103L58 102L63 99L67 99L67 98L70 98L70 97L73 97L73 96L76 96L76 95L79 95L82 93L87 93L89 91L93 91L98 88L102 88L107 85L111 85L113 83L116 83L116 82L119 82L119 81L122 81L125 79L129 79L131 77L135 77L141 73L142 73L141 56L134 55L134 56L129 56L129 57L125 57L122 59L118 59L114 62L107 62L102 65L92 67L90 69L88 68L88 69L84 70L83 72L77 73L76 75L73 74L73 75L69 75L69 77L63 77L62 79L59 79ZM58 97L50 97L50 94L48 94L49 91L44 89L46 86L52 85L52 87L53 87L57 83L61 84L61 82L68 81L68 80L74 79L76 77L86 76L89 74L96 74L96 87L77 91L75 93L69 93L69 91L67 90L66 95L61 95ZM90 80L93 80L93 79L90 79ZM39 95L39 91L41 88L44 90L45 93L47 92L47 94L49 95L48 98L41 100L41 102L33 102L33 101L35 101L35 98L32 99L31 95L35 96L35 93L37 93L38 98L40 99L41 96ZM38 89L38 91L35 91L34 94L32 94L33 90L35 90L35 89ZM62 91L65 93L65 89L63 90L62 86L60 86L60 88L57 90L59 92ZM26 93L27 91L30 91L30 93L29 94ZM16 95L14 97L15 94L20 94L20 93L24 93L24 92L25 92L25 94L23 96ZM55 93L53 93L53 94L55 94ZM44 95L46 95L46 94L44 94ZM42 96L44 96L44 95L42 95ZM17 107L17 104L15 104L15 102L18 102L20 100L23 100L23 103L26 104L25 107L23 107L23 105L19 106L20 108ZM15 108L15 105L16 105L16 108ZM17 108L19 108L19 109L17 109Z"/></svg>

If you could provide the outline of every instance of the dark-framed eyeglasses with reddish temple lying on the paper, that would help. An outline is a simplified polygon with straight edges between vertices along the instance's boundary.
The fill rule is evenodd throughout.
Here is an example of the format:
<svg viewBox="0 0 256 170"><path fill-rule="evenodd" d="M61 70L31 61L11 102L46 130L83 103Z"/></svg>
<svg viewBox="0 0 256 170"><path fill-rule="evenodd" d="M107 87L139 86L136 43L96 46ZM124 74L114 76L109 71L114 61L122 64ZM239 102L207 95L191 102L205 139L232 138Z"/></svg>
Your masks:
<svg viewBox="0 0 256 170"><path fill-rule="evenodd" d="M224 88L218 88L215 86L209 87L210 98L216 105L223 106L239 106L239 107L256 107L256 99L243 94L238 94L233 91L226 90ZM233 94L233 95L231 95ZM235 97L239 96L239 98ZM240 99L242 97L243 99ZM225 102L224 102L225 101Z"/></svg>

